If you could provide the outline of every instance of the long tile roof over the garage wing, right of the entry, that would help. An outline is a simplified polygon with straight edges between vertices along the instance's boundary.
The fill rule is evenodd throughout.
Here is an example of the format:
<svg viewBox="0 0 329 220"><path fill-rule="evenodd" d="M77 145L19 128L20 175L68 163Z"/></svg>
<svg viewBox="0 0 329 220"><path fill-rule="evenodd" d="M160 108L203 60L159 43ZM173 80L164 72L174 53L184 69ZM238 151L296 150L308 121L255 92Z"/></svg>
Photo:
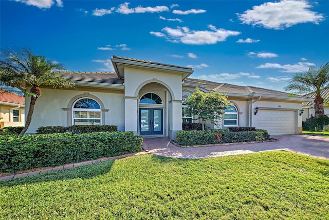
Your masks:
<svg viewBox="0 0 329 220"><path fill-rule="evenodd" d="M200 83L200 85L202 85L203 88L207 89L208 91L218 91L220 93L226 93L226 94L241 94L241 95L256 95L256 96L271 95L271 96L291 97L289 93L284 93L283 91L259 88L255 86L240 86L240 85L232 85L228 83L216 83L208 80L199 80L192 78L188 78L184 82ZM306 97L298 96L298 95L294 95L293 97L306 99Z"/></svg>

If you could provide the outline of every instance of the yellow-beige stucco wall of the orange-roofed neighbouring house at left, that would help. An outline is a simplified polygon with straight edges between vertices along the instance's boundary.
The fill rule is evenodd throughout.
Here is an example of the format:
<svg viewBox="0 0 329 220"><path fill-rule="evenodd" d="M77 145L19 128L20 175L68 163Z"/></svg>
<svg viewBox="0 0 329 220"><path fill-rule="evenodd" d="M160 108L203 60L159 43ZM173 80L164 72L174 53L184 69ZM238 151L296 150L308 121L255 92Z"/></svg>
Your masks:
<svg viewBox="0 0 329 220"><path fill-rule="evenodd" d="M20 105L0 104L0 128L8 126L24 126L25 108ZM13 110L20 111L20 121L13 121Z"/></svg>

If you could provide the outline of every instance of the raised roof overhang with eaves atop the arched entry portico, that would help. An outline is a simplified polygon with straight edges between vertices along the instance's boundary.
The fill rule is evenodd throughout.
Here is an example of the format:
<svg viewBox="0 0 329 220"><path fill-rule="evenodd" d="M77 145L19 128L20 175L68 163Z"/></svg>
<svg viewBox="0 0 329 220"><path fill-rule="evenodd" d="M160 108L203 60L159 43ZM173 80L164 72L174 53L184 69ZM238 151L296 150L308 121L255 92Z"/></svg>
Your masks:
<svg viewBox="0 0 329 220"><path fill-rule="evenodd" d="M122 79L124 79L125 68L166 72L170 74L180 74L182 80L185 80L194 72L193 69L179 68L179 67L166 66L166 65L154 64L154 63L145 63L141 61L126 60L120 58L111 58L111 61L118 77Z"/></svg>

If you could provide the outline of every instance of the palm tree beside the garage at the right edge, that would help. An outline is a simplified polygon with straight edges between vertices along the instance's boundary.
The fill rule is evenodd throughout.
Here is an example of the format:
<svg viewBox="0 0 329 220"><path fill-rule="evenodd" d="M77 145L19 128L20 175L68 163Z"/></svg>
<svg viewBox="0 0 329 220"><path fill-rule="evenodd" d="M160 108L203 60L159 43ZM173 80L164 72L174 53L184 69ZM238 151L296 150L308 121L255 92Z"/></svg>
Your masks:
<svg viewBox="0 0 329 220"><path fill-rule="evenodd" d="M298 94L315 93L314 99L314 117L320 118L324 116L323 98L321 97L321 91L329 88L329 62L320 68L310 66L308 71L300 72L296 74L293 79L290 80L289 85L285 87L285 90L295 90Z"/></svg>

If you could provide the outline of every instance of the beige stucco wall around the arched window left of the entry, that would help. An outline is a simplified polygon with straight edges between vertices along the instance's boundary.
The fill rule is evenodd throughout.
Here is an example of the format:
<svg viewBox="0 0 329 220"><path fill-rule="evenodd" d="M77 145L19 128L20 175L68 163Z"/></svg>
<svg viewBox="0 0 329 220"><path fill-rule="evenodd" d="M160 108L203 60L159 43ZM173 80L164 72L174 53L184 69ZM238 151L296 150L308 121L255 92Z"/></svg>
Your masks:
<svg viewBox="0 0 329 220"><path fill-rule="evenodd" d="M42 95L36 100L31 124L27 133L35 133L39 126L70 126L70 102L75 97L97 97L105 109L102 124L117 125L118 131L124 131L124 99L122 91L97 90L65 90L42 88ZM29 108L30 98L25 99L26 111Z"/></svg>

